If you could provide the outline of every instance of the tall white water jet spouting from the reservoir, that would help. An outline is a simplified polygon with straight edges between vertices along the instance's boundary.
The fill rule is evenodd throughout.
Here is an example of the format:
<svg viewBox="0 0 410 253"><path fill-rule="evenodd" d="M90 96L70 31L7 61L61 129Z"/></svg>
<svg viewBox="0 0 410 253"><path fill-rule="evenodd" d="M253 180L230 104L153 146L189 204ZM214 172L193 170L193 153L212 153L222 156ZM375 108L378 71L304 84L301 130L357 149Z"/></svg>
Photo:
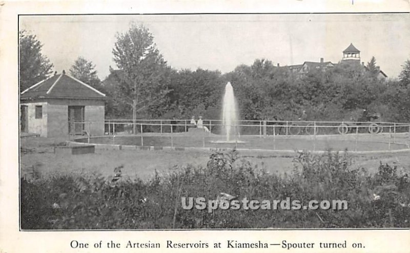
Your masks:
<svg viewBox="0 0 410 253"><path fill-rule="evenodd" d="M227 136L227 141L238 134L238 110L231 82L225 86L225 95L222 103L222 128Z"/></svg>

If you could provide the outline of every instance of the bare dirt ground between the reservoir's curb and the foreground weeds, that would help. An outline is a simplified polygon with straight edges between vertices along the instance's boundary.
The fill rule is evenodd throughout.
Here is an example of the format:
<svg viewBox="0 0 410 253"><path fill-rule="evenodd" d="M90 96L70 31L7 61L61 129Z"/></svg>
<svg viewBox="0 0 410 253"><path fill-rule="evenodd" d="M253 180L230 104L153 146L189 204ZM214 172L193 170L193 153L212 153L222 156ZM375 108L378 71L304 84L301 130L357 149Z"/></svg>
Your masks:
<svg viewBox="0 0 410 253"><path fill-rule="evenodd" d="M169 173L175 166L206 166L211 152L204 151L132 151L96 150L95 154L56 155L54 146L63 141L51 138L25 137L20 139L20 176L28 176L33 171L42 176L65 173L99 173L104 176L113 174L115 167L124 165L122 173L131 178L148 180L159 173ZM258 168L270 173L290 172L294 167L296 154L279 155L269 152L239 152ZM354 156L353 167L364 167L374 172L380 162L397 165L410 171L410 152L387 153L378 155Z"/></svg>

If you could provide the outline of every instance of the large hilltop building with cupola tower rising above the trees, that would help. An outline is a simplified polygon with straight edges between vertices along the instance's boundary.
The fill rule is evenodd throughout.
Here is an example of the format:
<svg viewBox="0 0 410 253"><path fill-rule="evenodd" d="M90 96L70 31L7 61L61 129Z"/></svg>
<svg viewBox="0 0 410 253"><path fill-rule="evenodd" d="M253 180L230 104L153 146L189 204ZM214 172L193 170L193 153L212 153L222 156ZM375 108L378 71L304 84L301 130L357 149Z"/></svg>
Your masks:
<svg viewBox="0 0 410 253"><path fill-rule="evenodd" d="M288 69L291 73L295 74L306 74L313 70L321 70L326 71L329 68L333 68L338 64L351 64L351 65L360 65L360 50L358 50L352 43L343 50L343 57L338 63L333 63L331 61L324 61L323 58L320 58L320 61L305 61L303 64L298 65L290 65L290 66L283 66L282 68ZM363 70L367 71L366 66L364 66L364 62L361 62L363 66ZM278 64L279 67L279 64ZM378 69L378 78L386 78L387 75Z"/></svg>

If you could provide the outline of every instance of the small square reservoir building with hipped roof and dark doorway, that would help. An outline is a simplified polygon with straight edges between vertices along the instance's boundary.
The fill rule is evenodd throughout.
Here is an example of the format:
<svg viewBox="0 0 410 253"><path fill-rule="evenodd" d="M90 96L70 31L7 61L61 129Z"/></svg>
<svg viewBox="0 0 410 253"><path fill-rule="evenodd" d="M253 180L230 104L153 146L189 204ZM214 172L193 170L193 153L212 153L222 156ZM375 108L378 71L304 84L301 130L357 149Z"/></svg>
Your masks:
<svg viewBox="0 0 410 253"><path fill-rule="evenodd" d="M104 135L106 99L65 71L55 73L20 94L20 131L42 137Z"/></svg>

